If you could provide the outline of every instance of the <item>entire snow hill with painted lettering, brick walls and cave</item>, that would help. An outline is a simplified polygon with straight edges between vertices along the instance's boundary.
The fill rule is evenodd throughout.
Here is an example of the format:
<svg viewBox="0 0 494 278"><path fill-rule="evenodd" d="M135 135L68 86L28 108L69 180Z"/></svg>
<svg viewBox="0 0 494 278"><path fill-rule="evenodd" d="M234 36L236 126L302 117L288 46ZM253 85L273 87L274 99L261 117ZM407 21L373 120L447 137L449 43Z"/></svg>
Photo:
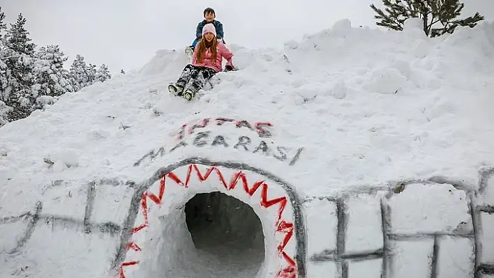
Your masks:
<svg viewBox="0 0 494 278"><path fill-rule="evenodd" d="M0 277L494 277L494 22L228 47L0 128Z"/></svg>

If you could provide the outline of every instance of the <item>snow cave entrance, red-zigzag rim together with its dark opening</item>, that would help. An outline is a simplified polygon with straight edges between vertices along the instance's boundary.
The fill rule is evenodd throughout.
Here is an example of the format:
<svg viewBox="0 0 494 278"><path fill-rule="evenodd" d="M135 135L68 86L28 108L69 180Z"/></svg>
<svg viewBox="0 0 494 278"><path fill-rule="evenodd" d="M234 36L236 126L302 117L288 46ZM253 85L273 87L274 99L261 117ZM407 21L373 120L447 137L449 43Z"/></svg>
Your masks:
<svg viewBox="0 0 494 278"><path fill-rule="evenodd" d="M149 183L140 201L133 199L139 208L129 243L121 245L123 277L288 277L296 271L294 210L283 187L259 173L200 164Z"/></svg>

